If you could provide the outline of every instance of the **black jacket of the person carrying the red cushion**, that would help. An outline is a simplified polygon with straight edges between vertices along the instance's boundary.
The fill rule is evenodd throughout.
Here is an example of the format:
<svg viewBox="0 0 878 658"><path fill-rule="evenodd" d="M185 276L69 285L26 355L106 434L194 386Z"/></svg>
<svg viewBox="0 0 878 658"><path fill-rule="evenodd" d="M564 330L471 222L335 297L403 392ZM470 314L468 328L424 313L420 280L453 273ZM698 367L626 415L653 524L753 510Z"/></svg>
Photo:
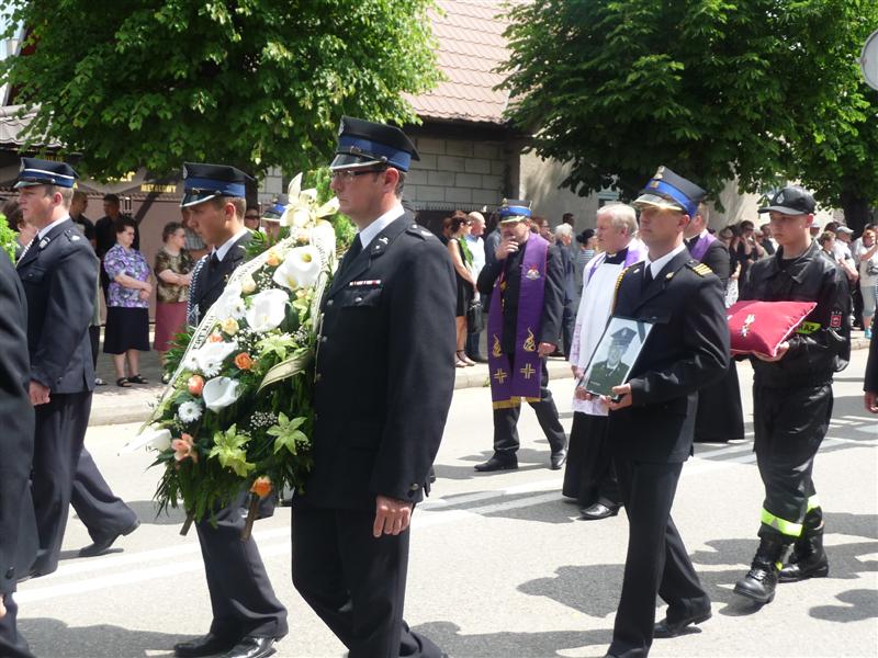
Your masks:
<svg viewBox="0 0 878 658"><path fill-rule="evenodd" d="M851 359L851 295L847 276L821 253L817 241L797 259L772 258L753 263L741 299L817 302L780 361L751 358L754 381L764 386L820 386Z"/></svg>

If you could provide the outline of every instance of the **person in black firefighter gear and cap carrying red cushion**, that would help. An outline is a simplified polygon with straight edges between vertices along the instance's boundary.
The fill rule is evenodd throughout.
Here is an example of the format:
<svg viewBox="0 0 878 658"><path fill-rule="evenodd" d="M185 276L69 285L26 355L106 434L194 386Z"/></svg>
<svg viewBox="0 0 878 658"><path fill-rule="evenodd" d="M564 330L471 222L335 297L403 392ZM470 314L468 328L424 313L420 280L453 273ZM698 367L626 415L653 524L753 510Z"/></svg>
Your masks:
<svg viewBox="0 0 878 658"><path fill-rule="evenodd" d="M826 576L823 511L811 474L832 417L833 373L851 355L847 277L811 241L814 198L799 186L775 194L768 213L779 245L750 271L741 299L817 302L817 308L777 356L754 354L753 450L765 485L759 547L734 591L768 603L780 582ZM778 572L787 547L790 563Z"/></svg>

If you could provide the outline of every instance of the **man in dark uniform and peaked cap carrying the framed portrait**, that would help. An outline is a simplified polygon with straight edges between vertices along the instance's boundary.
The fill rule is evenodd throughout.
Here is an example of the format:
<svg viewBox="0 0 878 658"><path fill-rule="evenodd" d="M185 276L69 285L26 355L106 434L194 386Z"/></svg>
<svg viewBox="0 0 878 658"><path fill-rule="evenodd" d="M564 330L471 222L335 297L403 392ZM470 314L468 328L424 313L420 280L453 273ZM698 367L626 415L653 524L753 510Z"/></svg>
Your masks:
<svg viewBox="0 0 878 658"><path fill-rule="evenodd" d="M693 449L698 390L729 364L722 285L694 261L683 231L705 191L661 167L634 202L649 252L619 276L614 315L653 325L627 384L616 386L608 444L629 521L628 555L608 656L649 655L710 617L710 599L671 519L683 463ZM655 594L666 617L655 624Z"/></svg>

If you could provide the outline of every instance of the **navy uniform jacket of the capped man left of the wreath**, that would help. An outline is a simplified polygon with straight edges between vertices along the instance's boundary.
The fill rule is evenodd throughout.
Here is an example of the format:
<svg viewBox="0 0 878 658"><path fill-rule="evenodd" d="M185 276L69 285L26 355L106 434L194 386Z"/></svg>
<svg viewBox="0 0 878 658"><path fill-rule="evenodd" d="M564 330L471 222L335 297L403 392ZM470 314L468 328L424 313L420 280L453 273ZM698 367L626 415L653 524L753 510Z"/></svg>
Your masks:
<svg viewBox="0 0 878 658"><path fill-rule="evenodd" d="M16 269L27 297L31 379L52 393L94 389L88 328L98 258L69 218L31 245Z"/></svg>

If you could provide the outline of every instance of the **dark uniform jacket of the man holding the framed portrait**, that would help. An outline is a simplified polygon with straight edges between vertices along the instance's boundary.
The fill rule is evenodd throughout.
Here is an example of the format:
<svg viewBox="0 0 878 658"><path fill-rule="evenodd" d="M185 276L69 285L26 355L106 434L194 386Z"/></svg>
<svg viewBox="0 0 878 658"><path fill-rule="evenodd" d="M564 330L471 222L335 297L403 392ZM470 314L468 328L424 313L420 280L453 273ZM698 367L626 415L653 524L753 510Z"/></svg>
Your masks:
<svg viewBox="0 0 878 658"><path fill-rule="evenodd" d="M729 366L720 280L684 250L642 287L644 263L620 275L614 315L653 322L629 378L632 406L610 411L610 451L673 464L691 454L698 389Z"/></svg>

